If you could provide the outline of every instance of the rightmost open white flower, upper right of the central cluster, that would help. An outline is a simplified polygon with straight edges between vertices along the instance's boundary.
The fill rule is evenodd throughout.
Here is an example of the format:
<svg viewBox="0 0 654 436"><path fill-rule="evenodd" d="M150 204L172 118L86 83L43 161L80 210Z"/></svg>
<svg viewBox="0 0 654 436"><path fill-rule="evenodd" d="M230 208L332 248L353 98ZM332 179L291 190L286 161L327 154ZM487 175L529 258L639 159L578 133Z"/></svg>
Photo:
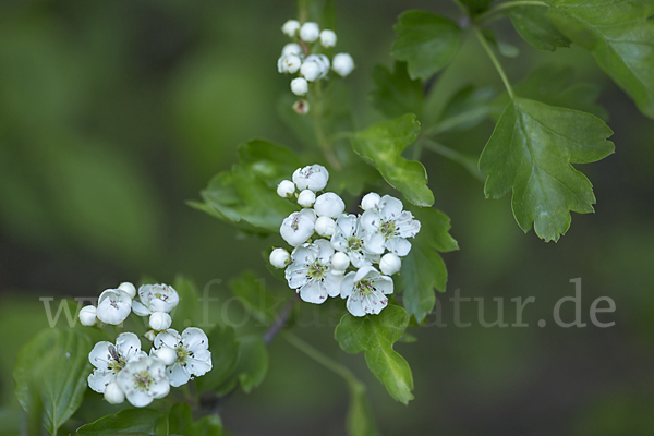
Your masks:
<svg viewBox="0 0 654 436"><path fill-rule="evenodd" d="M372 253L384 253L385 249L398 256L411 251L411 242L420 231L420 221L410 211L402 211L402 202L384 195L378 209L370 209L361 216L361 226L365 231L365 247Z"/></svg>

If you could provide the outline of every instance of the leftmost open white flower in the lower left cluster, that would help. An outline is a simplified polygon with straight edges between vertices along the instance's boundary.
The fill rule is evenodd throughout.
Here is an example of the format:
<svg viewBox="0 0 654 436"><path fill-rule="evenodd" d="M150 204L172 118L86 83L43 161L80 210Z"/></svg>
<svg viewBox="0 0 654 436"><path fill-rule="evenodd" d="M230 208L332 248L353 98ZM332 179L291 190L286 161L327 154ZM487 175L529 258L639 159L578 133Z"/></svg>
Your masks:
<svg viewBox="0 0 654 436"><path fill-rule="evenodd" d="M124 368L128 362L145 355L141 351L141 341L132 332L120 334L116 338L116 346L101 341L95 344L88 360L95 366L88 376L88 387L99 393L105 393L107 385L116 380L116 376Z"/></svg>

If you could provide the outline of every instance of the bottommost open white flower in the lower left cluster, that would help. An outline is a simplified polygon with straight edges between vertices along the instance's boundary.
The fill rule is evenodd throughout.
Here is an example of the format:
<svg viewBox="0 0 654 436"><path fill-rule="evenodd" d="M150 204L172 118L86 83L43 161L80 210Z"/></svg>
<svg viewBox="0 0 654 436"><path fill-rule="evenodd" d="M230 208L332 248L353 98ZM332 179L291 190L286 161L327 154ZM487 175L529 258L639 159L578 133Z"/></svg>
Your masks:
<svg viewBox="0 0 654 436"><path fill-rule="evenodd" d="M116 383L125 392L128 401L137 408L144 408L155 398L164 398L170 392L166 365L159 359L147 355L129 362L116 377Z"/></svg>

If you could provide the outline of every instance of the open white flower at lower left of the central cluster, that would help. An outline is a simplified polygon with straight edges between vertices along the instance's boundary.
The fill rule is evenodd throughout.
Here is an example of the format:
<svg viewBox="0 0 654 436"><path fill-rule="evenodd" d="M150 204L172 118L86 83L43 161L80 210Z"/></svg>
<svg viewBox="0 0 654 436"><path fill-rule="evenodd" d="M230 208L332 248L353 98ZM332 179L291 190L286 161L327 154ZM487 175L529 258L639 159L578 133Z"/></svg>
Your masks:
<svg viewBox="0 0 654 436"><path fill-rule="evenodd" d="M325 239L293 250L292 264L286 269L284 276L289 287L295 289L302 300L320 304L327 300L327 295L339 294L342 276L332 274L332 254L334 249Z"/></svg>

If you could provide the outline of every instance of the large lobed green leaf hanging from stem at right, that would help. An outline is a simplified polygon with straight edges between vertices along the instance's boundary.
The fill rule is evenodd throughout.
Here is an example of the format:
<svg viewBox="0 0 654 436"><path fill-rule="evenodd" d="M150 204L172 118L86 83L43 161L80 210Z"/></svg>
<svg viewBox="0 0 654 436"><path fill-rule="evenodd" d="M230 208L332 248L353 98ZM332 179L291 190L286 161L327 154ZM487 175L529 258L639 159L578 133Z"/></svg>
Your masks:
<svg viewBox="0 0 654 436"><path fill-rule="evenodd" d="M591 182L571 164L600 160L614 152L611 130L598 118L576 110L516 98L501 114L480 158L488 175L486 197L512 189L511 206L525 232L557 241L570 227L570 210L593 211Z"/></svg>

